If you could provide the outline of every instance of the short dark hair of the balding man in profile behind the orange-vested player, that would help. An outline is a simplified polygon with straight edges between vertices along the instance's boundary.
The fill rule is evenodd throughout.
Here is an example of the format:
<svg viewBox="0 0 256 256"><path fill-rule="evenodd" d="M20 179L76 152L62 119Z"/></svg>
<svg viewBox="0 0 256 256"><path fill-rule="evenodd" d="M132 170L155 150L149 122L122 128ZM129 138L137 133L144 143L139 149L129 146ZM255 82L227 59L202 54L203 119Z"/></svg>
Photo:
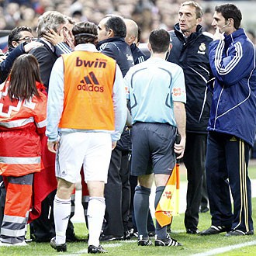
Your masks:
<svg viewBox="0 0 256 256"><path fill-rule="evenodd" d="M112 29L114 36L126 37L126 23L120 16L110 16L105 23L105 28L106 31Z"/></svg>

